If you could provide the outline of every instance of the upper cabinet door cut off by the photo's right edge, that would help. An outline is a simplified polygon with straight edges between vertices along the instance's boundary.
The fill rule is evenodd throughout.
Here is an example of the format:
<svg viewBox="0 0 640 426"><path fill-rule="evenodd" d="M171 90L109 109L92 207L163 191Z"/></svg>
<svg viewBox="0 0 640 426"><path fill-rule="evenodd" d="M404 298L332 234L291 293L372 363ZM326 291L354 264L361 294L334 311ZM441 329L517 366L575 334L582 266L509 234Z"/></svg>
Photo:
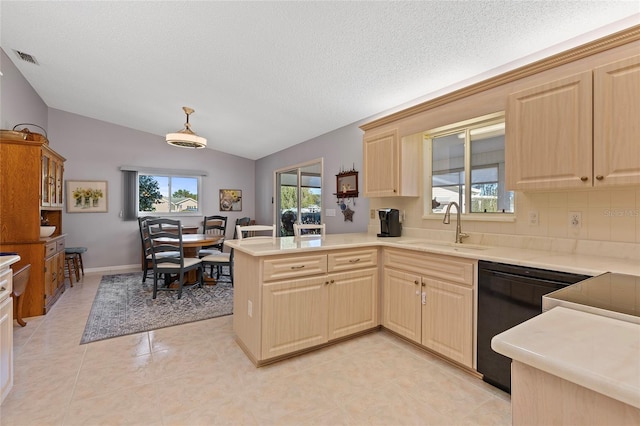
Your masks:
<svg viewBox="0 0 640 426"><path fill-rule="evenodd" d="M595 186L640 183L640 55L594 71Z"/></svg>

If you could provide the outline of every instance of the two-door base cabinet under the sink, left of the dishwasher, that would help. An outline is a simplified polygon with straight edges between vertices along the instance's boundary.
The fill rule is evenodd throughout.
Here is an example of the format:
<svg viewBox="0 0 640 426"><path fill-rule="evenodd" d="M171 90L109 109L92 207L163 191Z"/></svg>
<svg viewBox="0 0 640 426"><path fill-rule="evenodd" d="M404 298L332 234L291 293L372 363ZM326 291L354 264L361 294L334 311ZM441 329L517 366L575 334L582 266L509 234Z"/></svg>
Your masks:
<svg viewBox="0 0 640 426"><path fill-rule="evenodd" d="M475 261L385 250L385 328L473 368Z"/></svg>

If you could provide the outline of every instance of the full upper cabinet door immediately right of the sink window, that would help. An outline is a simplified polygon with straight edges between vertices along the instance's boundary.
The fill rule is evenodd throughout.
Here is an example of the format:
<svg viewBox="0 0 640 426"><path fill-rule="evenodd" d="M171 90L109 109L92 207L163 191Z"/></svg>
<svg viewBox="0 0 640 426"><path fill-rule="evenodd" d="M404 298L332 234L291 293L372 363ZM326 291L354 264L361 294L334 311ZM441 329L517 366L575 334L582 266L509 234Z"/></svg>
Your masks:
<svg viewBox="0 0 640 426"><path fill-rule="evenodd" d="M592 185L592 72L513 93L507 101L510 190Z"/></svg>

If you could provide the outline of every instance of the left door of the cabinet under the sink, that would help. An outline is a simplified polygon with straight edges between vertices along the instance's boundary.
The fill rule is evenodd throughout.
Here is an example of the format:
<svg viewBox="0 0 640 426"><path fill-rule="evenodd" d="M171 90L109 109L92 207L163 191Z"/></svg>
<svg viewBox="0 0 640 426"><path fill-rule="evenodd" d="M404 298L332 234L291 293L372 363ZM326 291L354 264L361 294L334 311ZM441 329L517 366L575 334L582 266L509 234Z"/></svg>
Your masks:
<svg viewBox="0 0 640 426"><path fill-rule="evenodd" d="M417 343L421 341L421 292L419 275L385 268L383 325Z"/></svg>

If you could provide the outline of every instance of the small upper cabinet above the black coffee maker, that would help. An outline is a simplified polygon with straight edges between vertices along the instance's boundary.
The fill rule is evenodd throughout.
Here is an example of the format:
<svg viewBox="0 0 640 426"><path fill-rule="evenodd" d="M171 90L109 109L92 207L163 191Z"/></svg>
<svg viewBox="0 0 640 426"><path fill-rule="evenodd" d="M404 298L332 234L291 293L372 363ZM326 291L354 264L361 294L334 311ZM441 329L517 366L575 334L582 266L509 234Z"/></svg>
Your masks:
<svg viewBox="0 0 640 426"><path fill-rule="evenodd" d="M417 197L421 141L420 135L399 139L397 130L365 134L365 197Z"/></svg>

